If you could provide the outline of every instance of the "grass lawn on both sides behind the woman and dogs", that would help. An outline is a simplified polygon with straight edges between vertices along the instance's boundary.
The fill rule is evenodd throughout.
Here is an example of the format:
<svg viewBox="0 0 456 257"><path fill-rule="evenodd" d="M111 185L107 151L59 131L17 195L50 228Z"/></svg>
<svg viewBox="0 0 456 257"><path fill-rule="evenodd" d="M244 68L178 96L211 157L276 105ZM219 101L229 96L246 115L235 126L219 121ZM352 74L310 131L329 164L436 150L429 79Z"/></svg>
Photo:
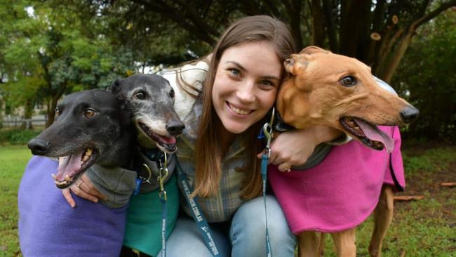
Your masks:
<svg viewBox="0 0 456 257"><path fill-rule="evenodd" d="M395 202L394 220L383 244L383 256L456 256L456 146L405 147L407 187L401 195L424 199ZM25 145L0 145L0 256L21 256L18 244L17 192L31 154ZM357 230L358 256L368 256L373 222ZM327 237L325 256L335 256Z"/></svg>

